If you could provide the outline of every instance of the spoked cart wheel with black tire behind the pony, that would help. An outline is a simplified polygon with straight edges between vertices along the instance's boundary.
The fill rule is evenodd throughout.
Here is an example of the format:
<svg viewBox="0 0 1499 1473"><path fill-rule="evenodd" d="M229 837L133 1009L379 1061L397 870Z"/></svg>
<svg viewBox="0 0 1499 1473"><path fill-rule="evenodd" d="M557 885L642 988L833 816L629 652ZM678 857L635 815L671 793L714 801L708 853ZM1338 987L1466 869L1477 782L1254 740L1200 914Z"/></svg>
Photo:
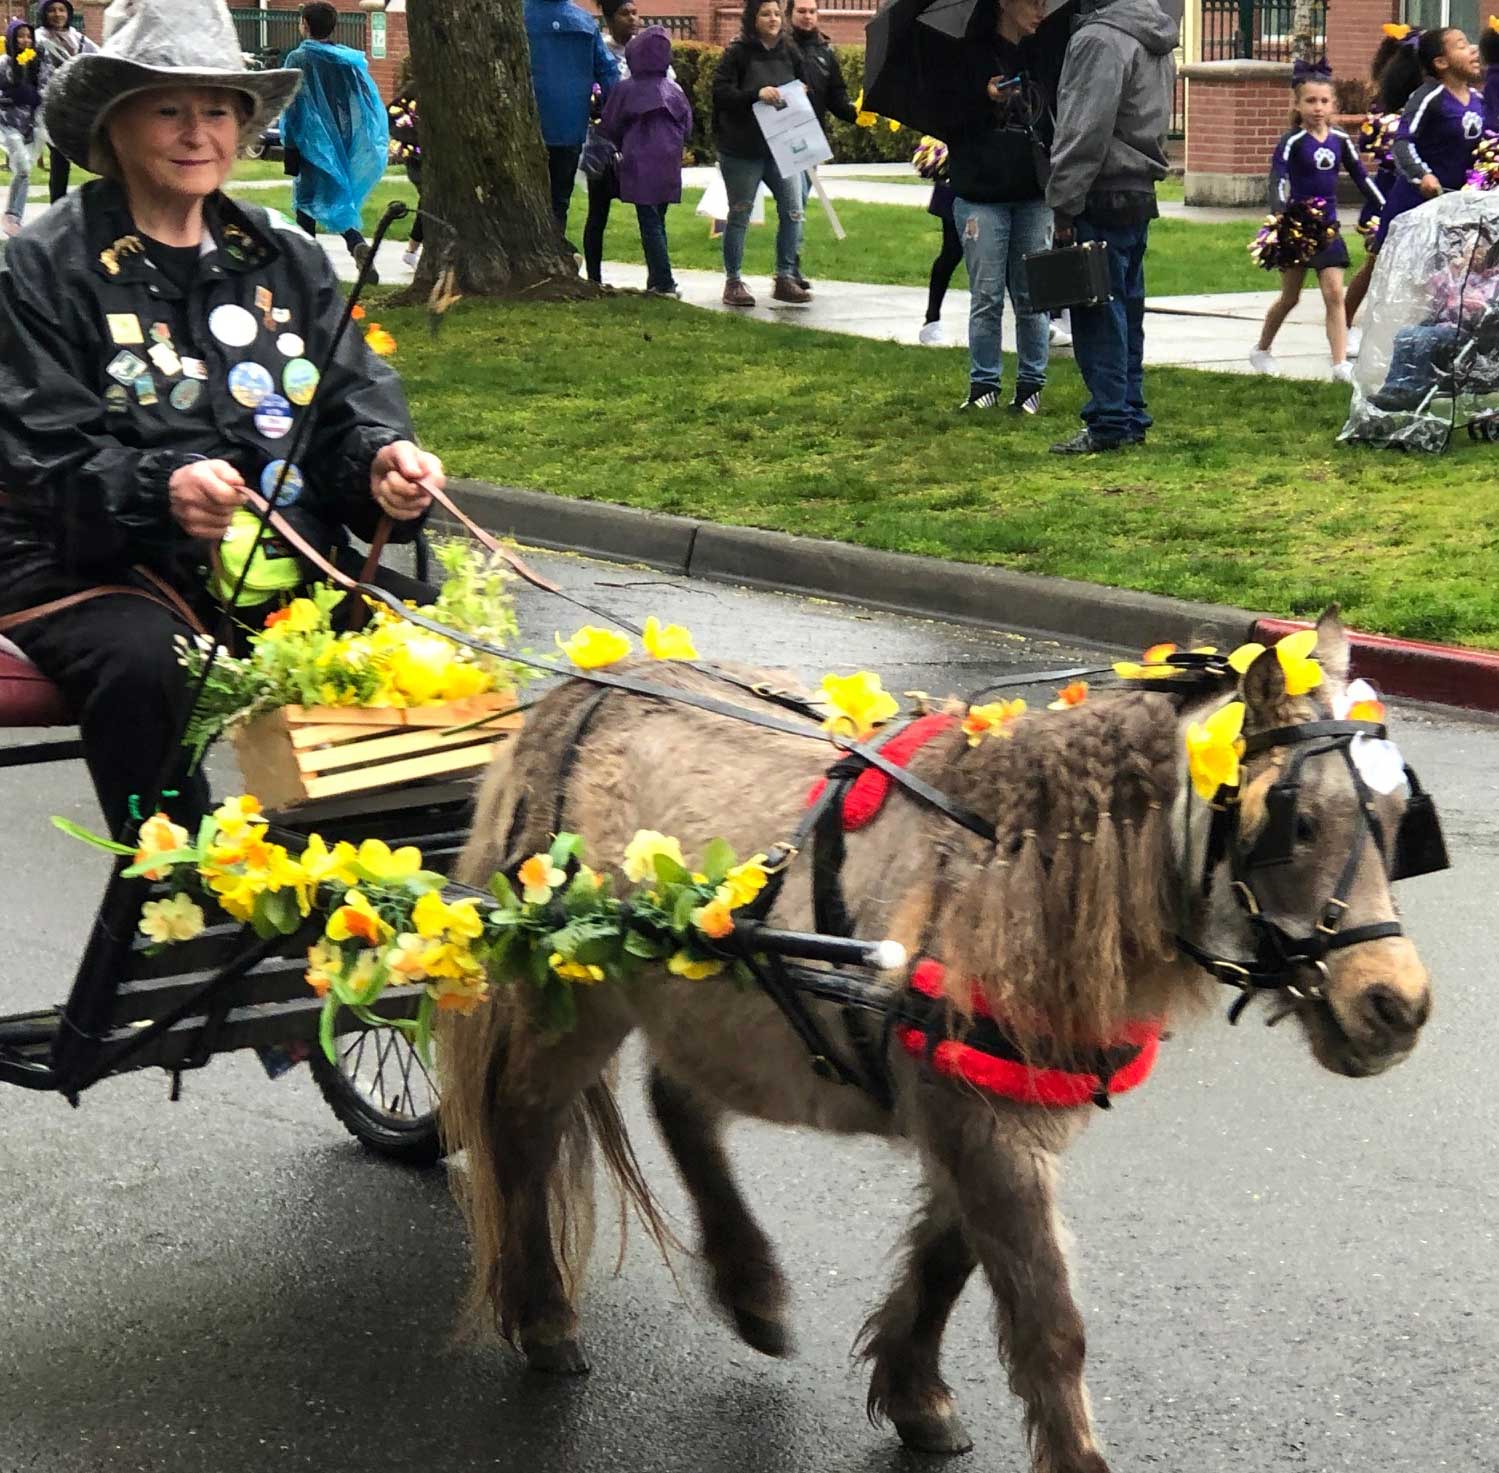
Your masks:
<svg viewBox="0 0 1499 1473"><path fill-rule="evenodd" d="M397 1028L342 1034L339 1059L309 1058L322 1097L355 1140L406 1166L436 1166L447 1154L438 1131L438 1083Z"/></svg>

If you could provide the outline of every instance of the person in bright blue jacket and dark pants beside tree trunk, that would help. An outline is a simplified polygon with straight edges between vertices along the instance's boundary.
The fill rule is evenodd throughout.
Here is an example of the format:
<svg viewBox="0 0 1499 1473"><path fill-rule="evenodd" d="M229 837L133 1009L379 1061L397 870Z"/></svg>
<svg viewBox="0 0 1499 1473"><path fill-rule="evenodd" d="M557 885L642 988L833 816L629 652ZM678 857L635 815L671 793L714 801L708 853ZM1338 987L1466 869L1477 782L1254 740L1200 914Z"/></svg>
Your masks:
<svg viewBox="0 0 1499 1473"><path fill-rule="evenodd" d="M595 85L600 100L609 100L619 81L619 67L604 45L598 21L573 0L526 0L526 40L541 142L547 148L552 216L564 249L577 255L567 238L567 211L588 138L588 109Z"/></svg>

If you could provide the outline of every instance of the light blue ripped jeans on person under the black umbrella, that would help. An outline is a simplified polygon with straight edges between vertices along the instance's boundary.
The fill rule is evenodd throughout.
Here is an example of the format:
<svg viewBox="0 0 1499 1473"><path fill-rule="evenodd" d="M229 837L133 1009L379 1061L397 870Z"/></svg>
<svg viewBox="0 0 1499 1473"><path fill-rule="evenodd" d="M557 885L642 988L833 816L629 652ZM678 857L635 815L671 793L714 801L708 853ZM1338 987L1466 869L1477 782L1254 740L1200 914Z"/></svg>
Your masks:
<svg viewBox="0 0 1499 1473"><path fill-rule="evenodd" d="M1046 313L1031 312L1021 261L1051 244L1051 210L1040 199L998 205L955 199L952 220L968 267L968 378L1000 387L1007 286L1015 304L1016 381L1040 387L1049 352Z"/></svg>

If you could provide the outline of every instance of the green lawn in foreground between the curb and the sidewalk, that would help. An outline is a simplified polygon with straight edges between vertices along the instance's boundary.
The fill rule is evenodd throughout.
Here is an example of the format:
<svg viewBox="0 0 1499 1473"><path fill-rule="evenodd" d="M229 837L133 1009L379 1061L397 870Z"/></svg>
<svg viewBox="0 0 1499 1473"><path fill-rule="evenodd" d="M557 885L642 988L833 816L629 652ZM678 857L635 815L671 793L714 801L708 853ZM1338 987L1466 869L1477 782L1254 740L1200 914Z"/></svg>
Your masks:
<svg viewBox="0 0 1499 1473"><path fill-rule="evenodd" d="M1148 447L1073 462L1070 361L1040 417L970 420L956 349L637 295L378 316L456 475L1499 647L1495 451L1340 448L1334 385L1151 370Z"/></svg>

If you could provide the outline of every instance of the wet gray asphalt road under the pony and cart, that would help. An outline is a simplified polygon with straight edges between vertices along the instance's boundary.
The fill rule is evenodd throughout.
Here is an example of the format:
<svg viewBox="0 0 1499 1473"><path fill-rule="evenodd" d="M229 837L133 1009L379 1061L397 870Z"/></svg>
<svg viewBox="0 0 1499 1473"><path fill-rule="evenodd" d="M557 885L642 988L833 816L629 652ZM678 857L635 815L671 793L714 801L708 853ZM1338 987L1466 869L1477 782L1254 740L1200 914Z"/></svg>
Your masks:
<svg viewBox="0 0 1499 1473"><path fill-rule="evenodd" d="M815 679L869 664L896 691L980 685L1097 652L546 559L706 655ZM550 640L576 622L526 593ZM555 620L555 622L553 622ZM1145 644L1150 629L1126 631ZM540 641L538 638L538 641ZM1090 1386L1115 1473L1430 1473L1499 1467L1495 877L1499 727L1402 710L1456 868L1403 887L1438 1007L1405 1067L1322 1073L1292 1028L1178 1032L1151 1085L1067 1163ZM46 815L94 820L82 770L0 772L0 1005L61 998L102 884ZM639 1100L646 1167L679 1194ZM794 1286L799 1353L764 1361L634 1242L601 1238L594 1374L549 1382L454 1346L463 1247L441 1172L364 1155L304 1071L252 1056L106 1082L78 1110L0 1092L0 1473L318 1469L898 1473L848 1347L886 1278L910 1164L875 1143L736 1130L750 1199ZM1028 1464L977 1286L947 1337L977 1442Z"/></svg>

